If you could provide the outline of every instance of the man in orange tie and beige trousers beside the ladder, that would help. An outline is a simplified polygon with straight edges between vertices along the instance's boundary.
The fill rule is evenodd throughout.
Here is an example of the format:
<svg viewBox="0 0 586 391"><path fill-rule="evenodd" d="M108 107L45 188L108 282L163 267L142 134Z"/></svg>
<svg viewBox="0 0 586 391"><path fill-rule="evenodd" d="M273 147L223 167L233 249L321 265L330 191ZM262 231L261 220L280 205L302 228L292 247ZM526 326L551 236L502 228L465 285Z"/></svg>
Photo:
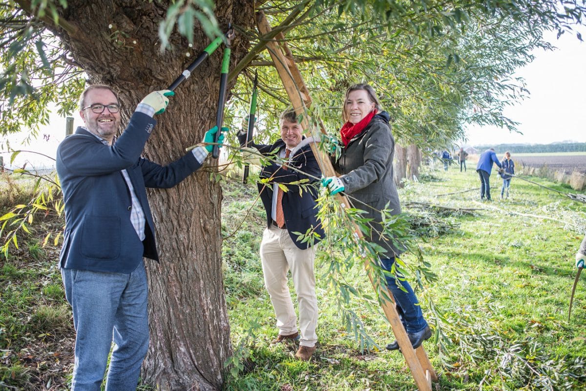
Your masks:
<svg viewBox="0 0 586 391"><path fill-rule="evenodd" d="M297 340L301 332L299 349L295 356L308 361L315 352L318 340L315 332L318 324L314 275L315 244L325 237L325 233L316 216L318 209L315 199L319 186L314 185L319 183L315 178L321 177L321 170L309 141L302 137L302 127L297 121L295 111L282 113L280 125L281 139L274 144L248 143L261 154L279 159L299 170L288 169L287 166L272 161L263 166L260 172L260 177L268 181L258 183L260 198L267 212L267 229L263 233L260 256L265 287L271 297L279 329L279 335L274 342ZM241 130L238 137L240 144L244 145L246 131ZM253 158L251 162L258 160ZM303 181L301 185L297 184L299 181ZM280 190L279 185L286 185L287 191ZM299 233L308 234L311 239L304 242L299 239ZM297 291L299 328L287 288L289 270Z"/></svg>

